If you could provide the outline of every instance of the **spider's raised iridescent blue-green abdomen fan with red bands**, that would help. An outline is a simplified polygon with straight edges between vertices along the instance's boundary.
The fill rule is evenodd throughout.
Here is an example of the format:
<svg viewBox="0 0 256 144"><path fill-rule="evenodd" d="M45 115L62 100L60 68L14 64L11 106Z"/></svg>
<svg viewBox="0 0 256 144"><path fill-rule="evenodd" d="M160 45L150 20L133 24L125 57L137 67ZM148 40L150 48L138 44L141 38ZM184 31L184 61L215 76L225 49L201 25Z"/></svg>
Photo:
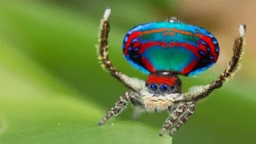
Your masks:
<svg viewBox="0 0 256 144"><path fill-rule="evenodd" d="M193 76L218 60L218 41L202 27L182 22L150 22L129 30L123 53L144 74L170 71Z"/></svg>

